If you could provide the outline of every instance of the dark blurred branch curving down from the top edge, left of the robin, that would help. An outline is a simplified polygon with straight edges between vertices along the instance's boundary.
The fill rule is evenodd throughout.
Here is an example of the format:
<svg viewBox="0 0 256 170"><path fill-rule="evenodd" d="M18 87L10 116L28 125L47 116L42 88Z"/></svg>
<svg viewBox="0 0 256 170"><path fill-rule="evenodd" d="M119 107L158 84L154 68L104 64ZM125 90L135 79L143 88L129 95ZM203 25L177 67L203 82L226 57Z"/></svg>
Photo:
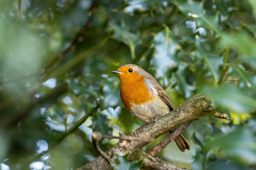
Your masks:
<svg viewBox="0 0 256 170"><path fill-rule="evenodd" d="M54 64L56 64L56 62L58 60L61 60L67 53L69 53L70 51L73 51L79 43L84 41L84 35L85 35L86 31L92 27L93 19L94 19L95 13L97 11L97 6L98 6L98 0L93 0L92 6L91 6L91 13L90 13L87 23L83 26L83 28L76 35L76 37L74 38L74 40L70 44L70 46L67 47L67 49L65 49L61 53L59 53L56 56L56 58L45 68L44 73L46 73L47 70L49 70L49 68L52 68L54 66Z"/></svg>

